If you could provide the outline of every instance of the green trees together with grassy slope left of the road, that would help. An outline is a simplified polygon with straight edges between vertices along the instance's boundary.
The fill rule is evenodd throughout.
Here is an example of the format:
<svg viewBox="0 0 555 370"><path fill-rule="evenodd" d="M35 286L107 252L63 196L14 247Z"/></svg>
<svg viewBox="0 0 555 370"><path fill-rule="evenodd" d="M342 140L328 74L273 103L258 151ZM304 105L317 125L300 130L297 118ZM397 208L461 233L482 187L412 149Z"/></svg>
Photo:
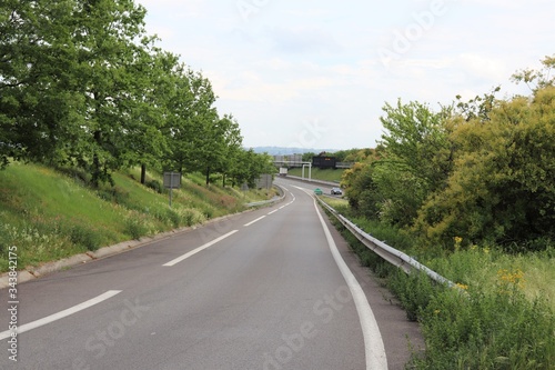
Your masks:
<svg viewBox="0 0 555 370"><path fill-rule="evenodd" d="M273 173L133 0L0 7L0 270L242 209ZM23 164L27 163L27 164ZM183 173L173 206L162 173ZM261 200L266 194L254 196Z"/></svg>

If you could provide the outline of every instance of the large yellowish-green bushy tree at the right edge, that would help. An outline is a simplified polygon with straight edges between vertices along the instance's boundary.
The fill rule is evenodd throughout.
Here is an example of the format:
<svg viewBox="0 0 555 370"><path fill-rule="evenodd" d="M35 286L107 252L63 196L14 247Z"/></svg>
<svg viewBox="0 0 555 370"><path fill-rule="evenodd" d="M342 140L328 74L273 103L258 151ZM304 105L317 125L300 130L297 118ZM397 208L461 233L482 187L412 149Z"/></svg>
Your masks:
<svg viewBox="0 0 555 370"><path fill-rule="evenodd" d="M455 169L415 224L426 240L507 244L555 236L555 87L532 101L500 101L490 117L458 120Z"/></svg>

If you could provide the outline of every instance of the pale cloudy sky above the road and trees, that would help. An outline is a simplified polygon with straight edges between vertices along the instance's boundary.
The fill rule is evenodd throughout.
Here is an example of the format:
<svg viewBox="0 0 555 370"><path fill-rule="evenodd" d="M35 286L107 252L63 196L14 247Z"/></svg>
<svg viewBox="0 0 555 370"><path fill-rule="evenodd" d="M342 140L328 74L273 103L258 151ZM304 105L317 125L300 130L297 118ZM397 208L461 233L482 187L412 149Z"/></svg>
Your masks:
<svg viewBox="0 0 555 370"><path fill-rule="evenodd" d="M529 94L511 76L555 56L553 0L135 2L248 148L373 148L386 102Z"/></svg>

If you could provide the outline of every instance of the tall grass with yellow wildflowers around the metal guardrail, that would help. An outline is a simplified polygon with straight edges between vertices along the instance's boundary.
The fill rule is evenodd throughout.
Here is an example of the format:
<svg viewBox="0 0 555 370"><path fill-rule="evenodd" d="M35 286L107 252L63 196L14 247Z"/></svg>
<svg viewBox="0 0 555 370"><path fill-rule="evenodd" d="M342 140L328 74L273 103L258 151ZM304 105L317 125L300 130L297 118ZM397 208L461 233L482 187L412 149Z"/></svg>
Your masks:
<svg viewBox="0 0 555 370"><path fill-rule="evenodd" d="M349 217L345 200L323 199ZM414 353L408 369L555 368L554 246L509 254L497 246L462 249L456 238L454 252L423 251L398 230L351 219L458 287L441 287L424 274L406 276L344 232L361 263L383 279L407 318L421 323L426 351Z"/></svg>

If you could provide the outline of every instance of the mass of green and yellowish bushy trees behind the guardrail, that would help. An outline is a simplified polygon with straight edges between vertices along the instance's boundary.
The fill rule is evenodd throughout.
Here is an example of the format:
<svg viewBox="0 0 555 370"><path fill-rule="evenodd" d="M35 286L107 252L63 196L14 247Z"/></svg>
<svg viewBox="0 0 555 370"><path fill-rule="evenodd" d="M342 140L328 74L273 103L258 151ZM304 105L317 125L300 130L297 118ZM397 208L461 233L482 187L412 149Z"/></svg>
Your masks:
<svg viewBox="0 0 555 370"><path fill-rule="evenodd" d="M513 77L529 97L383 108L376 156L346 171L351 206L424 244L534 244L555 238L555 58Z"/></svg>

